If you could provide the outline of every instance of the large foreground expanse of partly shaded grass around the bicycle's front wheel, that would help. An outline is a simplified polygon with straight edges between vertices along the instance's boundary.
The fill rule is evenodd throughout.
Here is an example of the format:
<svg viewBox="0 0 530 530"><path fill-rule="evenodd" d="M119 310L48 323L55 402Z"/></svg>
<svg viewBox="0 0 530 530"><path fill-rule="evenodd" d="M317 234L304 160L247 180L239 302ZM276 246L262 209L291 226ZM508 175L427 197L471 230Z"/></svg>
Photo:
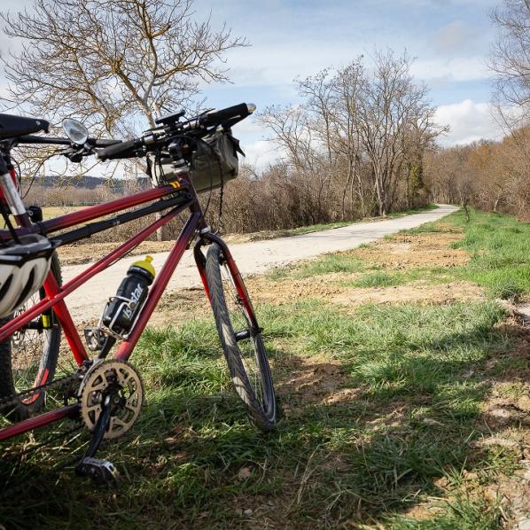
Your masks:
<svg viewBox="0 0 530 530"><path fill-rule="evenodd" d="M248 424L230 392L209 320L151 329L135 355L148 404L134 434L102 452L126 475L120 491L63 474L58 484L29 487L23 506L4 497L2 520L22 527L41 513L55 527L74 518L78 527L220 528L284 518L306 527L383 520L416 503L418 489L439 495L434 481L448 470L502 465L470 452L487 387L463 375L479 373L492 349L506 347L495 331L502 318L494 302L364 306L355 316L322 300L263 308L285 409L269 435ZM300 369L311 359L319 362ZM334 366L330 394L357 399L331 406L325 393L300 393L289 382L298 367L318 386L315 374ZM38 472L41 464L32 464Z"/></svg>

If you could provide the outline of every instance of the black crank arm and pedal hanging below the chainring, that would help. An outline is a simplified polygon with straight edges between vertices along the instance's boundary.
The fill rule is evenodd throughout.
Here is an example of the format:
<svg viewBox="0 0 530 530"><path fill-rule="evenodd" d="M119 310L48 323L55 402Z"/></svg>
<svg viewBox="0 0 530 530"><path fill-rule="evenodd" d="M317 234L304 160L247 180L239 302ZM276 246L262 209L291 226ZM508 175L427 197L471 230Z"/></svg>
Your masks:
<svg viewBox="0 0 530 530"><path fill-rule="evenodd" d="M107 395L103 404L101 414L97 419L96 428L90 445L82 456L79 464L75 467L76 474L83 477L90 477L94 479L99 486L109 485L116 486L120 479L120 473L116 469L116 466L108 460L101 460L94 458L96 455L97 448L101 444L109 421L111 419L111 406L110 396Z"/></svg>

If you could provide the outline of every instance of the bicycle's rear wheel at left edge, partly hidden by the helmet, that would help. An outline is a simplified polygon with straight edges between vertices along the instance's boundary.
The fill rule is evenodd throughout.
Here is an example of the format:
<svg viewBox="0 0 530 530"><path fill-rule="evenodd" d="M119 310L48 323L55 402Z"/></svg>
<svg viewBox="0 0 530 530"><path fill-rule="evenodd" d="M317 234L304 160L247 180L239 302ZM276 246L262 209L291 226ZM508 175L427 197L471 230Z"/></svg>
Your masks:
<svg viewBox="0 0 530 530"><path fill-rule="evenodd" d="M57 253L51 256L50 270L58 284L62 284ZM13 316L35 305L44 296L45 292L41 287ZM53 321L51 312L47 316ZM10 318L4 318L0 325L9 320ZM34 323L42 323L42 316L35 319ZM17 331L9 339L0 342L0 400L53 380L57 369L60 336L61 329L56 323L53 327L40 331L29 328ZM42 409L45 394L41 391L27 401L19 401L15 408L5 407L0 412L11 421L25 419Z"/></svg>

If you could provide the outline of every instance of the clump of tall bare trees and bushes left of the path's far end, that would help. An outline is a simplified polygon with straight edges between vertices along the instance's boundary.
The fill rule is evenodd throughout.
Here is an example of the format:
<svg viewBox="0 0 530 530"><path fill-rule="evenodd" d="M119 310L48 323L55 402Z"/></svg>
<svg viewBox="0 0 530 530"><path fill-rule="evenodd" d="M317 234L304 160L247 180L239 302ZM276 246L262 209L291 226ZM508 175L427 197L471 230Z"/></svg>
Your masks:
<svg viewBox="0 0 530 530"><path fill-rule="evenodd" d="M392 51L377 53L370 67L360 57L298 80L296 105L261 113L258 120L272 132L282 163L256 183L239 183L249 197L257 195L255 208L269 211L280 201L280 211L262 215L300 224L425 204L425 153L441 129L427 88L413 82L410 66L407 54Z"/></svg>

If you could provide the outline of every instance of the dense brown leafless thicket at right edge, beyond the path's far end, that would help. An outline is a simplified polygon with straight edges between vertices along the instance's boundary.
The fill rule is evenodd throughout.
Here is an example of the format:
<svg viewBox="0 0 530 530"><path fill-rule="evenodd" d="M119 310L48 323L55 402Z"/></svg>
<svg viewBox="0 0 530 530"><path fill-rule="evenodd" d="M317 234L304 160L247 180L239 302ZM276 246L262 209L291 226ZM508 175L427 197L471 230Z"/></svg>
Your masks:
<svg viewBox="0 0 530 530"><path fill-rule="evenodd" d="M530 219L530 128L501 142L481 141L429 153L425 183L433 200L470 204Z"/></svg>

